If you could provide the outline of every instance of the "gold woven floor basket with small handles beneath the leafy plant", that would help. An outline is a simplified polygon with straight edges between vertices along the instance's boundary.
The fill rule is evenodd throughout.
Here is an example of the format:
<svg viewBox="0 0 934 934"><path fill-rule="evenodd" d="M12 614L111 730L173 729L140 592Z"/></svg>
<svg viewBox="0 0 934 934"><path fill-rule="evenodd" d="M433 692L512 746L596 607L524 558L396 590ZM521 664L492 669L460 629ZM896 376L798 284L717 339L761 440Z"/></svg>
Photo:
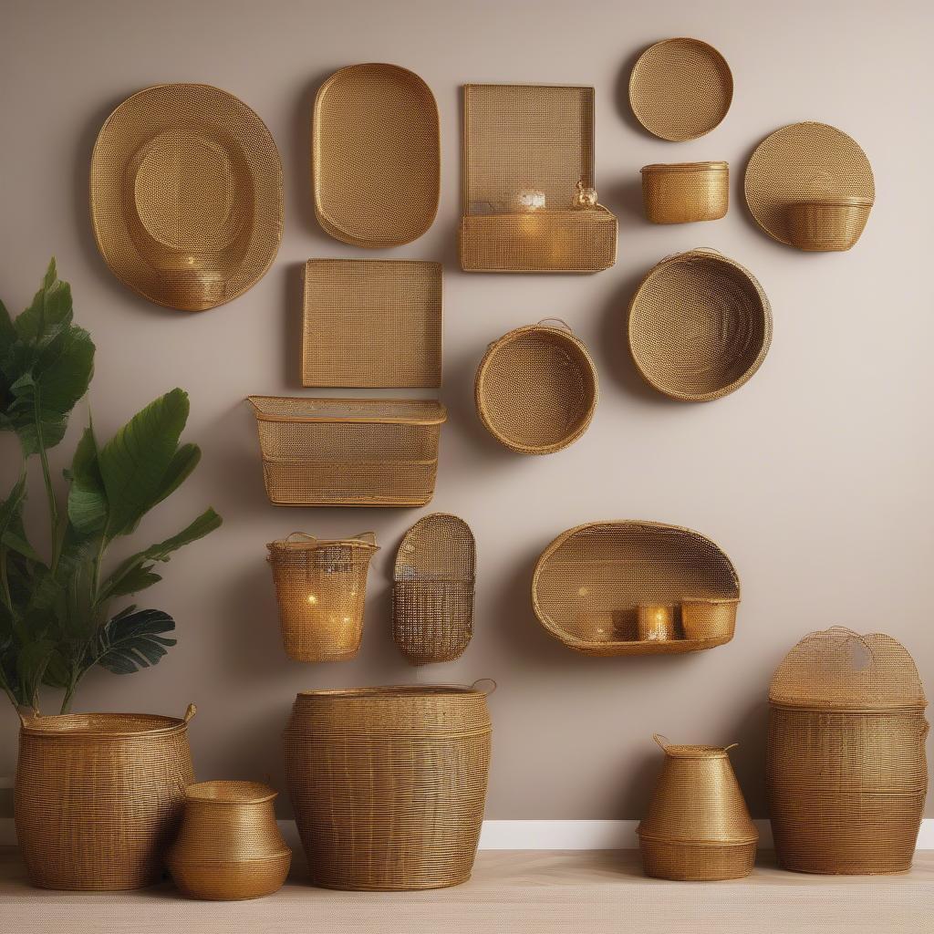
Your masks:
<svg viewBox="0 0 934 934"><path fill-rule="evenodd" d="M142 888L159 881L191 785L188 722L146 714L23 716L15 816L41 888Z"/></svg>

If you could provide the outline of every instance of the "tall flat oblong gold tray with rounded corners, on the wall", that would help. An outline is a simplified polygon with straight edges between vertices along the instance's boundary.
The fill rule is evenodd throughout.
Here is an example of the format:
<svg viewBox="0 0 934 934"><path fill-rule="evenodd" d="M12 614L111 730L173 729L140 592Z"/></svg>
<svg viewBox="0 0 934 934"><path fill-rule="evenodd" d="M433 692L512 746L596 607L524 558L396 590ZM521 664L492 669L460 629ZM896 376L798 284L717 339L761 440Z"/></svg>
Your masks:
<svg viewBox="0 0 934 934"><path fill-rule="evenodd" d="M312 125L315 213L357 247L398 247L432 226L441 146L431 89L394 64L342 68L318 90Z"/></svg>

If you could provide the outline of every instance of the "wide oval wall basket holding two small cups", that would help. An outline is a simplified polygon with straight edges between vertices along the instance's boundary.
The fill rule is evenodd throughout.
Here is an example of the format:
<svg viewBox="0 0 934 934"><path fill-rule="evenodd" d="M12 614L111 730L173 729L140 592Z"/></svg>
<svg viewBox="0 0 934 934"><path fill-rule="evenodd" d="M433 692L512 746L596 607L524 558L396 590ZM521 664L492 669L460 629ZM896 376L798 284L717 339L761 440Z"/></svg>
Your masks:
<svg viewBox="0 0 934 934"><path fill-rule="evenodd" d="M545 548L531 600L548 634L584 655L696 652L733 638L740 581L700 532L632 519L591 522ZM699 606L709 611L706 626L689 630L687 613ZM647 633L646 619L656 624Z"/></svg>

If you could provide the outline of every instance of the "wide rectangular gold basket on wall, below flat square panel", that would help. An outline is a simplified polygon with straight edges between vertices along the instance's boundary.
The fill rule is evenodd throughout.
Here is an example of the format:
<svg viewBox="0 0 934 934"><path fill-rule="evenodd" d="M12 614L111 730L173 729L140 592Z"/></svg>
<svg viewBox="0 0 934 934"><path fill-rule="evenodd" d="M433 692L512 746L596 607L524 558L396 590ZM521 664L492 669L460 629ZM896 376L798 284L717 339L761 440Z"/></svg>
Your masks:
<svg viewBox="0 0 934 934"><path fill-rule="evenodd" d="M431 400L250 396L276 505L422 506L445 406Z"/></svg>

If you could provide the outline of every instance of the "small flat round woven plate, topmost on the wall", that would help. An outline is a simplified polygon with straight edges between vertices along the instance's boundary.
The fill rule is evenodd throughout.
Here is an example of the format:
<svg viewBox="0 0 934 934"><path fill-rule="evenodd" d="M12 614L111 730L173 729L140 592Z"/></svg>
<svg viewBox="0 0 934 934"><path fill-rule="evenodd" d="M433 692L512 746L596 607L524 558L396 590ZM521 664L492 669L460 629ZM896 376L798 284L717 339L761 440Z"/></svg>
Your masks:
<svg viewBox="0 0 934 934"><path fill-rule="evenodd" d="M727 60L700 39L657 42L632 67L632 113L649 133L672 143L710 133L732 99Z"/></svg>

